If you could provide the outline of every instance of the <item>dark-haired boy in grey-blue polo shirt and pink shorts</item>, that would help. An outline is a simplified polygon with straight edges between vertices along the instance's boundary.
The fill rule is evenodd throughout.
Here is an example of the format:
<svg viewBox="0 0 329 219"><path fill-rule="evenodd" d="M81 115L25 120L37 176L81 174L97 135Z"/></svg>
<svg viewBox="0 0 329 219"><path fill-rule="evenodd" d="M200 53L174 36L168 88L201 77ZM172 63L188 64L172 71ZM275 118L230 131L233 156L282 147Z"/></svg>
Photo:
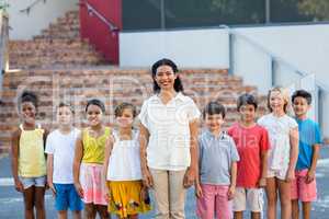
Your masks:
<svg viewBox="0 0 329 219"><path fill-rule="evenodd" d="M239 154L234 140L222 131L225 108L211 102L204 110L206 129L198 137L200 178L196 180L197 216L202 219L231 218Z"/></svg>

